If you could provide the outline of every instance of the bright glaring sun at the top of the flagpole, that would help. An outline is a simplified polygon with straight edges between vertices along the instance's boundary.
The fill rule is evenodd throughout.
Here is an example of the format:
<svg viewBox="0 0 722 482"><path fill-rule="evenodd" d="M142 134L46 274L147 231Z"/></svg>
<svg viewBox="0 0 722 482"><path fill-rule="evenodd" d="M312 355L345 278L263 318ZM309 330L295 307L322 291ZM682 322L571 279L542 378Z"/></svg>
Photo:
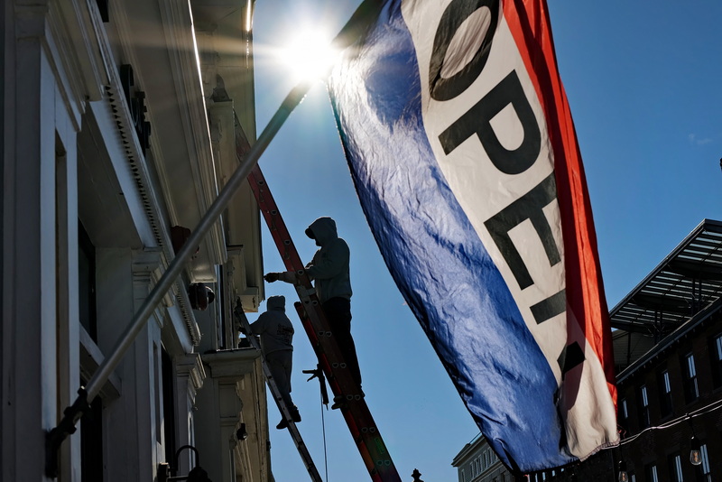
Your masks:
<svg viewBox="0 0 722 482"><path fill-rule="evenodd" d="M287 40L280 60L291 70L293 80L301 82L325 79L339 54L331 48L326 32L308 29Z"/></svg>

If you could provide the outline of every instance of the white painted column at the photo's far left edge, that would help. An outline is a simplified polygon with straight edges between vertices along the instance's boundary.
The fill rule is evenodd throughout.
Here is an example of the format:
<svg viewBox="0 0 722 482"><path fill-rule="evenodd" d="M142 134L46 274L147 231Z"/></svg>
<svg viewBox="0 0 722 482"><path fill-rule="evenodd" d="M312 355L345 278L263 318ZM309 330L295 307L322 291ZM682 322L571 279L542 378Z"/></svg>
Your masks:
<svg viewBox="0 0 722 482"><path fill-rule="evenodd" d="M4 3L2 479L43 480L56 384L55 85L45 8ZM14 10L13 10L14 9Z"/></svg>

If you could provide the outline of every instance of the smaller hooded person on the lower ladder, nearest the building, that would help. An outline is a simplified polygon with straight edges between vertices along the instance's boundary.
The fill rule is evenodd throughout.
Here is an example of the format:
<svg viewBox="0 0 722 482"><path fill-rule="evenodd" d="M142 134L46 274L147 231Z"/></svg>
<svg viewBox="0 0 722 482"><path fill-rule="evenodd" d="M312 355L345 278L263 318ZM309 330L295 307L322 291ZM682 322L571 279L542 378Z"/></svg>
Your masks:
<svg viewBox="0 0 722 482"><path fill-rule="evenodd" d="M251 332L261 340L261 350L271 369L279 392L286 403L293 422L301 422L299 409L291 399L291 370L293 361L293 324L286 316L286 299L283 296L269 296L265 312L251 323ZM276 425L281 430L288 427L283 419Z"/></svg>

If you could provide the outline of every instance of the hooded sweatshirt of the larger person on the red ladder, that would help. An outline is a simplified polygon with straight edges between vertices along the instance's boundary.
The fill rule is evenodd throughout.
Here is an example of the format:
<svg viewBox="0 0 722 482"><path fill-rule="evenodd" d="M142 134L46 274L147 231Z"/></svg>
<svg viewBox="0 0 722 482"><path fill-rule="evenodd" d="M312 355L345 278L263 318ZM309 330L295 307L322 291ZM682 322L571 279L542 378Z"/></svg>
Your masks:
<svg viewBox="0 0 722 482"><path fill-rule="evenodd" d="M346 241L338 237L336 222L331 218L318 218L306 230L320 249L306 266L306 273L314 280L319 301L331 298L351 299L351 278L348 273L350 251Z"/></svg>

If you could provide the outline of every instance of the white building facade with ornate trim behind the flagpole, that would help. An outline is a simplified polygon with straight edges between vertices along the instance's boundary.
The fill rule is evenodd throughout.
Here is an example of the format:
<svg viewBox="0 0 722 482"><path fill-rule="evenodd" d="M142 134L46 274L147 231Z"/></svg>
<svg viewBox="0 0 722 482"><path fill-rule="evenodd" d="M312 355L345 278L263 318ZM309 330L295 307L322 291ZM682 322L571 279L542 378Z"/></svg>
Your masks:
<svg viewBox="0 0 722 482"><path fill-rule="evenodd" d="M255 139L253 0L2 8L0 478L150 481L199 464L214 482L272 479L260 359L236 348L232 316L264 298L247 186L78 431L46 446L235 170L234 113Z"/></svg>

